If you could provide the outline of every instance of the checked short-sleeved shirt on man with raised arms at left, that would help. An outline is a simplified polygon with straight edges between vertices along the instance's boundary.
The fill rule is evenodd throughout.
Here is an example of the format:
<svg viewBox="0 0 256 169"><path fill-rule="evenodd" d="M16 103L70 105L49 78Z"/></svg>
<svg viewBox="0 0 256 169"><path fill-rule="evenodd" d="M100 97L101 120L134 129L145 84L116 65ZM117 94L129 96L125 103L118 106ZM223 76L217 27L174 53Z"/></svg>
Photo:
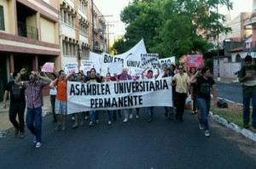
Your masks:
<svg viewBox="0 0 256 169"><path fill-rule="evenodd" d="M42 89L47 86L47 84L43 81L37 81L35 84L32 84L29 81L23 82L23 87L26 88L27 108L34 109L44 105Z"/></svg>

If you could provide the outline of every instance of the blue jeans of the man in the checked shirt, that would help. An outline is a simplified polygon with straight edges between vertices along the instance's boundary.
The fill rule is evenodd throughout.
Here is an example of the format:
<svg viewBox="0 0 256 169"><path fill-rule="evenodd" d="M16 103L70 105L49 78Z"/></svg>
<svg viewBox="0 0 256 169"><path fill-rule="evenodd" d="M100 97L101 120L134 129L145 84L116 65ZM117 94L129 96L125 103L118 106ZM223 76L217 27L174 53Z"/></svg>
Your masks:
<svg viewBox="0 0 256 169"><path fill-rule="evenodd" d="M26 111L26 126L36 136L37 142L41 142L42 135L42 107Z"/></svg>

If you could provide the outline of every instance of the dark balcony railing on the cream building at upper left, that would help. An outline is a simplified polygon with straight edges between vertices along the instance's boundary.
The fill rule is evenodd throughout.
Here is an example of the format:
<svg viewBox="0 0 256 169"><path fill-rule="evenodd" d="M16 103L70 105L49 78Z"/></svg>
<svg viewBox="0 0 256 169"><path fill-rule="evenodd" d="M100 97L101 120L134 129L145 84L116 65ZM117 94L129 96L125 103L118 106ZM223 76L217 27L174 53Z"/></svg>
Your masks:
<svg viewBox="0 0 256 169"><path fill-rule="evenodd" d="M18 22L18 35L38 40L38 28Z"/></svg>

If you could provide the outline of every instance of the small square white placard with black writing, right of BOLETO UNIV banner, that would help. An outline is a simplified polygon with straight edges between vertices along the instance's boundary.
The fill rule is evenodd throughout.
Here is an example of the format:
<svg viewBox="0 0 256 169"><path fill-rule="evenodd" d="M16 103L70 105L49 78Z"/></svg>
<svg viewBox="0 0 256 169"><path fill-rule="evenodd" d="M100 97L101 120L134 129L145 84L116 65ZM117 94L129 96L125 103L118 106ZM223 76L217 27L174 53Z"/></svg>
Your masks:
<svg viewBox="0 0 256 169"><path fill-rule="evenodd" d="M158 54L141 54L141 67L146 69L155 69L159 68L159 62L158 62Z"/></svg>

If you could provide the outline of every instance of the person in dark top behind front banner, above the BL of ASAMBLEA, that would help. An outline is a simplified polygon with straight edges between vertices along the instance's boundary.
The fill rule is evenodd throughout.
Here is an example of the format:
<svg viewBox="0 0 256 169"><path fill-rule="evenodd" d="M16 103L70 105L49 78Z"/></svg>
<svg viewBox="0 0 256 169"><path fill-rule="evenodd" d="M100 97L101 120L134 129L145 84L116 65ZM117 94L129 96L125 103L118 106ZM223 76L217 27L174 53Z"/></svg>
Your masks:
<svg viewBox="0 0 256 169"><path fill-rule="evenodd" d="M90 82L102 82L99 77L96 76L96 69L90 69L90 77L88 77L87 83ZM92 127L95 123L99 123L99 114L96 110L90 111L90 122L89 127Z"/></svg>

